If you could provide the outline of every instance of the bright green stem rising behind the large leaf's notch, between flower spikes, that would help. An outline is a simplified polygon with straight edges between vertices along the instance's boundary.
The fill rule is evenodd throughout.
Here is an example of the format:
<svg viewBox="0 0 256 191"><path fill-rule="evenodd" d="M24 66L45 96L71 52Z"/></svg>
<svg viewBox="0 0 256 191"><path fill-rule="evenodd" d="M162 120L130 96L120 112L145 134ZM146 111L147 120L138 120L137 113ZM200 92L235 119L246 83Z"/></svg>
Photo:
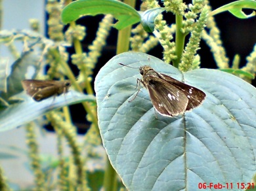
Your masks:
<svg viewBox="0 0 256 191"><path fill-rule="evenodd" d="M184 42L185 37L184 33L181 32L182 27L182 15L176 15L176 35L175 35L175 52L177 55L177 59L173 60L173 66L179 67L179 63L181 62L182 52L184 50Z"/></svg>

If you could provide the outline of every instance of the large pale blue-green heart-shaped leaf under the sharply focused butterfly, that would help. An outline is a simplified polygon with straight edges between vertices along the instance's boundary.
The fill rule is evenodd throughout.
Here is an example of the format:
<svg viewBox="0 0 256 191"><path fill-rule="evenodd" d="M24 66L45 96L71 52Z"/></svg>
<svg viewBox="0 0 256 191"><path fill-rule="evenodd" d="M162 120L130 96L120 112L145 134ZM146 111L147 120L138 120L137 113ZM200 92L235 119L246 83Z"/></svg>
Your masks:
<svg viewBox="0 0 256 191"><path fill-rule="evenodd" d="M200 88L200 107L177 117L155 113L137 69ZM108 61L95 81L98 124L108 157L129 190L198 190L198 184L249 182L256 171L256 90L213 69L181 73L147 54L127 52ZM236 189L234 189L236 190Z"/></svg>

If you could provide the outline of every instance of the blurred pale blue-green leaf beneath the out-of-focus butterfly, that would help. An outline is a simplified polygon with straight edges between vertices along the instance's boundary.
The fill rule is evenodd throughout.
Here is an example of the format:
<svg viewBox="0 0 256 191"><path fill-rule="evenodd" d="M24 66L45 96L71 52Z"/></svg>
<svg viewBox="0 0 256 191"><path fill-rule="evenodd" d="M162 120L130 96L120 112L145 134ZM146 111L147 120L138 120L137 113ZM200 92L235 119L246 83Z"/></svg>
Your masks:
<svg viewBox="0 0 256 191"><path fill-rule="evenodd" d="M0 131L7 131L23 124L26 124L37 117L60 107L81 103L82 101L95 102L94 96L88 96L69 91L67 94L57 97L50 97L43 101L34 101L32 97L24 92L20 94L24 101L10 105L7 109L0 111Z"/></svg>

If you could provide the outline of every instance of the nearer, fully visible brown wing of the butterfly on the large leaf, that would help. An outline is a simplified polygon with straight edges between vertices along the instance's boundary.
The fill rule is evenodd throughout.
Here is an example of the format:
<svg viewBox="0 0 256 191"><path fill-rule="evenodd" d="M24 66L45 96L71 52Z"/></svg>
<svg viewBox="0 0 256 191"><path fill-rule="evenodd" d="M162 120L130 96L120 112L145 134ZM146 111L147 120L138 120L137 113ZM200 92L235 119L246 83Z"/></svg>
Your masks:
<svg viewBox="0 0 256 191"><path fill-rule="evenodd" d="M188 97L172 84L159 77L148 76L148 83L144 85L158 113L164 116L177 116L186 111Z"/></svg>

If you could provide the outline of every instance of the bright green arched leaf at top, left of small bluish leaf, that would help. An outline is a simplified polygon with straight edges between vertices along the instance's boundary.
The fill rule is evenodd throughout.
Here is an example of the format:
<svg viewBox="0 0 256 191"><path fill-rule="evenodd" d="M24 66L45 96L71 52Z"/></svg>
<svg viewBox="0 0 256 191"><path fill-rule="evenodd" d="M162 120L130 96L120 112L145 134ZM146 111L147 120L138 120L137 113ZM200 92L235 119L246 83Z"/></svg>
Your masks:
<svg viewBox="0 0 256 191"><path fill-rule="evenodd" d="M140 22L140 14L125 3L115 0L80 0L74 1L62 10L62 22L68 24L81 16L97 14L112 14L119 20L114 27L124 29L127 26Z"/></svg>

